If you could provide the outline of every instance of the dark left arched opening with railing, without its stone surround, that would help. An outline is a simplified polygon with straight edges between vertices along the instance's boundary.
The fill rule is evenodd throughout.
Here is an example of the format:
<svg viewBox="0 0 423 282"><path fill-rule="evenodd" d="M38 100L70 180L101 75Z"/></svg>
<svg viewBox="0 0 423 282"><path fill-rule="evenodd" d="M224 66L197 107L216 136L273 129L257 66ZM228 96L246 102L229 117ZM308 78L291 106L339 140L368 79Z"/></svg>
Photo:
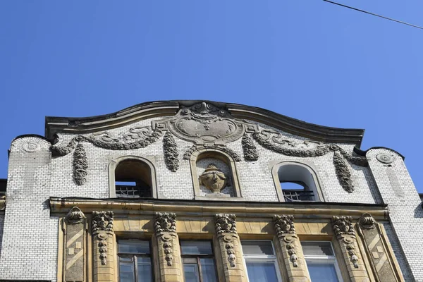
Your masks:
<svg viewBox="0 0 423 282"><path fill-rule="evenodd" d="M125 159L115 169L116 197L152 197L152 172L137 159Z"/></svg>

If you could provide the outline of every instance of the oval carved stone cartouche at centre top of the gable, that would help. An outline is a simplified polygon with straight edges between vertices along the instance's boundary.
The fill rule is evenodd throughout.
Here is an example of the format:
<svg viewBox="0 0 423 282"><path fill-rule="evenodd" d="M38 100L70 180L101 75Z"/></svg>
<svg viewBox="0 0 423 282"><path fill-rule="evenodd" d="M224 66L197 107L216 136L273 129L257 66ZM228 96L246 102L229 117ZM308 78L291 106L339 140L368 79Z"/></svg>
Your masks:
<svg viewBox="0 0 423 282"><path fill-rule="evenodd" d="M257 130L257 125L237 120L225 109L202 102L180 109L171 118L153 121L152 128L170 130L180 139L195 144L225 145L243 137L245 132Z"/></svg>

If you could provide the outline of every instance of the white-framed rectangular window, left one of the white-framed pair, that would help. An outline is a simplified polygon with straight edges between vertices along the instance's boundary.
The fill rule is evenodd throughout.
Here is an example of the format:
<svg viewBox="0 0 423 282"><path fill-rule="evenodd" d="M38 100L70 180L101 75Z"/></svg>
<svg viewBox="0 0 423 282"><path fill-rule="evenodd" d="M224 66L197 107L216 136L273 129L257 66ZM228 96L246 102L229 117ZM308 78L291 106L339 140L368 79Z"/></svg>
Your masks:
<svg viewBox="0 0 423 282"><path fill-rule="evenodd" d="M249 282L280 282L276 255L271 241L242 240Z"/></svg>

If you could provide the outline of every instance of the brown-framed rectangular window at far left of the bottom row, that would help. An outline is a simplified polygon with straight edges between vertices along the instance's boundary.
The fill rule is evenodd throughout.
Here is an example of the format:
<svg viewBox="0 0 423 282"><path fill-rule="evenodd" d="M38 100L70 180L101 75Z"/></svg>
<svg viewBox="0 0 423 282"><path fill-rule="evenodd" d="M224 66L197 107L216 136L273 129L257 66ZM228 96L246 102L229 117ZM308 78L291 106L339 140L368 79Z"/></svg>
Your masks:
<svg viewBox="0 0 423 282"><path fill-rule="evenodd" d="M119 281L152 282L152 259L149 241L119 240Z"/></svg>

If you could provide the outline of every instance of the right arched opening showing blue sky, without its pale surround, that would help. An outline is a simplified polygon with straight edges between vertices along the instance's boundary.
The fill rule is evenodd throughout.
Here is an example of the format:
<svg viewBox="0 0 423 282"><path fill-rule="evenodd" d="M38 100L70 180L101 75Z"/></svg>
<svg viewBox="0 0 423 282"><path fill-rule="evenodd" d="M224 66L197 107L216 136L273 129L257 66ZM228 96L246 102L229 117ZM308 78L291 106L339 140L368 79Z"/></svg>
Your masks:
<svg viewBox="0 0 423 282"><path fill-rule="evenodd" d="M278 169L278 178L285 202L317 201L317 185L305 166L285 164Z"/></svg>

